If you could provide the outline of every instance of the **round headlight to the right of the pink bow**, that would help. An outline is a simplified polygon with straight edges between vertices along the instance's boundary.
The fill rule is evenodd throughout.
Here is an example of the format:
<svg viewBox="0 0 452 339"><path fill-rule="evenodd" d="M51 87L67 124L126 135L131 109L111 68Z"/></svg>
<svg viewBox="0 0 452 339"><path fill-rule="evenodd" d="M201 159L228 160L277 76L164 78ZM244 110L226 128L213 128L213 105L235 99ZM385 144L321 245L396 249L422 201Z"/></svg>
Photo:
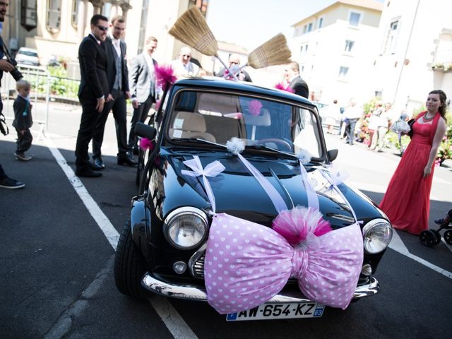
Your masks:
<svg viewBox="0 0 452 339"><path fill-rule="evenodd" d="M364 250L377 254L386 249L393 238L393 227L384 219L374 219L363 227Z"/></svg>

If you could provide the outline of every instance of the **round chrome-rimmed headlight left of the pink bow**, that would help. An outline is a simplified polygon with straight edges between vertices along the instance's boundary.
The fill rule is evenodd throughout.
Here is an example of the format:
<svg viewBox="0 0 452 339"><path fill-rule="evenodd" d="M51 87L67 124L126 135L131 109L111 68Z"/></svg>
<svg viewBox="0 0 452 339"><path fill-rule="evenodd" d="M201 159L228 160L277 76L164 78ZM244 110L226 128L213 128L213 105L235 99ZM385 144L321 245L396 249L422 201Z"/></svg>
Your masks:
<svg viewBox="0 0 452 339"><path fill-rule="evenodd" d="M194 207L173 210L163 225L165 238L177 249L194 249L206 239L207 231L206 213Z"/></svg>

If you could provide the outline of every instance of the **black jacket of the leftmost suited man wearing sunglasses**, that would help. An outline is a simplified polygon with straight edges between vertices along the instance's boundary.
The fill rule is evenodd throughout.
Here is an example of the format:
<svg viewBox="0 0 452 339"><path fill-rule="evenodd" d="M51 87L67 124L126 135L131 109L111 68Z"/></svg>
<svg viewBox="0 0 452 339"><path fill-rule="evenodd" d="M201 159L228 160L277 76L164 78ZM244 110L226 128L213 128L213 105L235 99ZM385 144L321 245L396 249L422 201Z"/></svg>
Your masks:
<svg viewBox="0 0 452 339"><path fill-rule="evenodd" d="M93 35L85 37L78 47L81 82L78 98L81 102L95 102L109 93L107 81L107 53Z"/></svg>

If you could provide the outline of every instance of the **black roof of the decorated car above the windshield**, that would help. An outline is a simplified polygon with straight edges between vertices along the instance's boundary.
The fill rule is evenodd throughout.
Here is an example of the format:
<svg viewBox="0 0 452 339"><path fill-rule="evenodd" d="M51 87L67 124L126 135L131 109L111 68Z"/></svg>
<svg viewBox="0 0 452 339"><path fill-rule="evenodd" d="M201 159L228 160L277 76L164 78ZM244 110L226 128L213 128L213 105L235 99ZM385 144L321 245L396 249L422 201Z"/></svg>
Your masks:
<svg viewBox="0 0 452 339"><path fill-rule="evenodd" d="M234 90L238 92L247 92L250 94L257 95L269 95L273 97L279 97L280 99L297 101L303 104L314 105L312 102L304 97L295 95L294 93L287 92L285 90L277 90L276 88L266 88L252 83L247 83L244 81L232 81L226 80L218 77L189 77L182 78L176 83L175 86L181 87L201 87L201 88L211 88L211 89L222 89L222 90Z"/></svg>

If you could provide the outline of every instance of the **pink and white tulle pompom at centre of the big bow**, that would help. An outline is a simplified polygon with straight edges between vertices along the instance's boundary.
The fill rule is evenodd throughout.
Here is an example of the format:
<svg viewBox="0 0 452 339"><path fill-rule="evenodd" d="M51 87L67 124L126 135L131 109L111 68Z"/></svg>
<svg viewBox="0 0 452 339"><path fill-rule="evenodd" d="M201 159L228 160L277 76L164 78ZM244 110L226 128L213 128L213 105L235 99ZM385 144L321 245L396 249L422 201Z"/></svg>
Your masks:
<svg viewBox="0 0 452 339"><path fill-rule="evenodd" d="M323 220L323 215L319 210L302 206L281 211L273 220L272 228L292 246L304 242L309 233L320 237L331 231L330 223Z"/></svg>

